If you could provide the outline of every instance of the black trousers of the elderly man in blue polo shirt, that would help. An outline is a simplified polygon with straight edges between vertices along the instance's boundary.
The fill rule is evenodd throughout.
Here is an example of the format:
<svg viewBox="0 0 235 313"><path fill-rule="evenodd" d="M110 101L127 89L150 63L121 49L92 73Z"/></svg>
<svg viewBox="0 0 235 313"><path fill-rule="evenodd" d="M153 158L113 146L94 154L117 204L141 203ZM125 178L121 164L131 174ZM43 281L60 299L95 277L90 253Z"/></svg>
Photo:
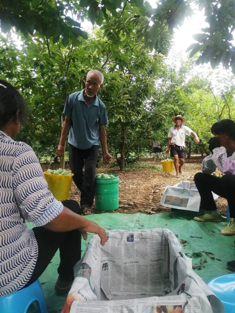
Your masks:
<svg viewBox="0 0 235 313"><path fill-rule="evenodd" d="M95 172L99 157L99 146L78 149L69 145L69 165L74 174L73 180L81 192L80 205L92 206L95 196ZM83 172L83 166L85 169Z"/></svg>

